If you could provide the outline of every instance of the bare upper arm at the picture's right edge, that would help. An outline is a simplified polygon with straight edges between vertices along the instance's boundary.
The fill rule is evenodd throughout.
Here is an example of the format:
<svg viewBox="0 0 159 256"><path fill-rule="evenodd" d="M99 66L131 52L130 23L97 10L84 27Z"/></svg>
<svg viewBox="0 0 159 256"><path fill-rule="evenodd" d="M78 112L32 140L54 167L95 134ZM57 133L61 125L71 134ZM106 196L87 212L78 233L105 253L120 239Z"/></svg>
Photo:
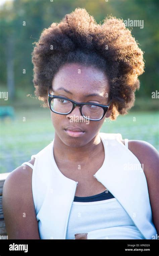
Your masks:
<svg viewBox="0 0 159 256"><path fill-rule="evenodd" d="M153 222L159 235L159 153L155 147L143 140L130 140L128 148L142 164L148 185Z"/></svg>

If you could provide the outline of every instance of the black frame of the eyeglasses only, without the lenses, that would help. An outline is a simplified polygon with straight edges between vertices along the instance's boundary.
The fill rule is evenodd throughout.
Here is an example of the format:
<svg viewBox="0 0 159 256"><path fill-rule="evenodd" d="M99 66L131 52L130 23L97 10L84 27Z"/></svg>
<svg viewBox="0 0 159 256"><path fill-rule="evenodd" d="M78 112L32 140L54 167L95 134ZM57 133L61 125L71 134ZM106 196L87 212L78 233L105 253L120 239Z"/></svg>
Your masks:
<svg viewBox="0 0 159 256"><path fill-rule="evenodd" d="M53 111L52 109L51 109L51 101L52 101L52 99L66 99L66 100L69 100L71 103L72 103L72 109L71 109L71 111L69 111L69 113L57 113L57 112L55 112L55 111ZM62 97L62 96L56 96L56 95L53 95L53 94L50 94L50 91L48 90L48 102L49 102L49 107L50 107L50 109L51 109L51 111L53 112L53 113L56 113L56 114L59 114L59 115L68 115L68 114L70 114L72 111L73 111L73 109L77 106L77 107L80 107L80 113L81 113L81 115L84 117L84 118L86 118L83 114L82 114L82 107L83 107L83 105L94 105L94 106L99 106L99 107L101 107L101 108L103 108L103 110L104 110L104 113L103 113L103 116L102 116L102 118L105 116L105 114L107 113L107 111L108 111L108 109L109 109L109 107L110 107L110 105L111 105L111 103L112 103L112 98L110 99L110 102L109 102L109 104L108 105L103 105L103 104L98 104L98 103L93 103L93 102L76 102L76 101L74 101L74 100L71 100L71 99L68 99L68 98L65 98L65 97ZM91 104L90 104L91 103ZM90 119L90 118L86 118L87 120L91 120L91 121L100 121L100 120L102 120L102 118L100 118L100 119L98 119L98 120L94 120L94 119Z"/></svg>

